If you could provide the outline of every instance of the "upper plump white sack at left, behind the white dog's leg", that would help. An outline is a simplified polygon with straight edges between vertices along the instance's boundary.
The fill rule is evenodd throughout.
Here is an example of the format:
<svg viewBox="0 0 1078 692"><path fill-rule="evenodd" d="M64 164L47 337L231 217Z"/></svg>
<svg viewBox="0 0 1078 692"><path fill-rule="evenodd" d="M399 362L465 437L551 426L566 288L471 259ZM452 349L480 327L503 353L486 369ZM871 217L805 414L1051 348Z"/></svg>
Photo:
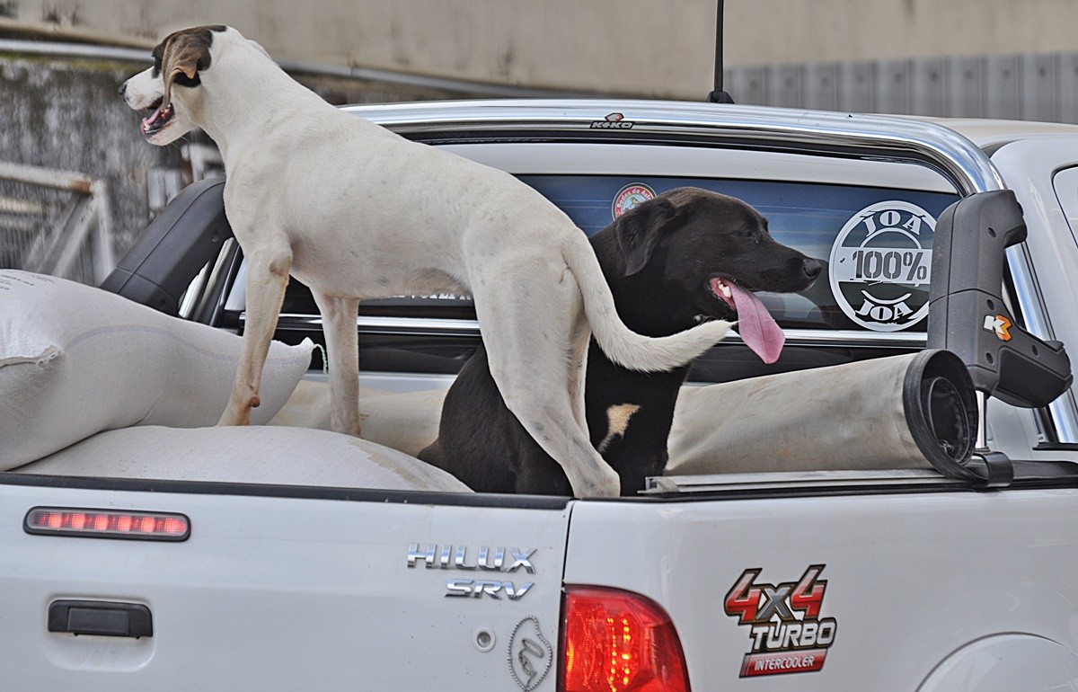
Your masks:
<svg viewBox="0 0 1078 692"><path fill-rule="evenodd" d="M101 430L216 424L240 344L108 291L0 271L0 470ZM272 344L252 423L284 405L312 349Z"/></svg>

